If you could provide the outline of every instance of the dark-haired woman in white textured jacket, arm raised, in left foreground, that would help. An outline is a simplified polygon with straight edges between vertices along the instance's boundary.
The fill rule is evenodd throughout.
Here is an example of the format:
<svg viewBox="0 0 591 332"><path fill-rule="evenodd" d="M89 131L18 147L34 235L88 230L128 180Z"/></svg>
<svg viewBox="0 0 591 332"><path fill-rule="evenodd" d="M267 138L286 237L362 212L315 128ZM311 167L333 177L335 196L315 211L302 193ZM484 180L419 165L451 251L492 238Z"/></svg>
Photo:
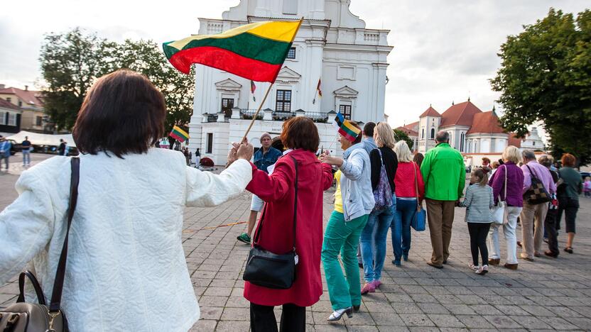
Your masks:
<svg viewBox="0 0 591 332"><path fill-rule="evenodd" d="M252 146L230 151L220 175L153 148L164 134L163 96L146 77L100 78L74 128L80 156L62 309L70 331L187 331L199 319L183 253L183 208L215 206L251 180ZM0 284L28 265L46 298L66 231L70 158L23 172L0 214Z"/></svg>

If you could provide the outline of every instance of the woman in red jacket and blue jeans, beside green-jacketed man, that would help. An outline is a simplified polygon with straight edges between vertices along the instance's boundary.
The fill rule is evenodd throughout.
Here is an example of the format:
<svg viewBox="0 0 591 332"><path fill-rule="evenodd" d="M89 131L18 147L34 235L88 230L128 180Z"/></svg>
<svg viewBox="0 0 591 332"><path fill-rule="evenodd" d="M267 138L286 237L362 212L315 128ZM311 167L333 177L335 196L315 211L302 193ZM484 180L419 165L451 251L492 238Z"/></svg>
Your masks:
<svg viewBox="0 0 591 332"><path fill-rule="evenodd" d="M416 214L417 197L421 205L425 196L423 175L413 155L404 140L394 145L394 152L398 156L398 170L394 183L396 184L396 214L390 228L392 230L392 247L394 260L392 263L400 266L400 256L408 261L408 251L411 250L411 221ZM418 187L418 192L416 188Z"/></svg>

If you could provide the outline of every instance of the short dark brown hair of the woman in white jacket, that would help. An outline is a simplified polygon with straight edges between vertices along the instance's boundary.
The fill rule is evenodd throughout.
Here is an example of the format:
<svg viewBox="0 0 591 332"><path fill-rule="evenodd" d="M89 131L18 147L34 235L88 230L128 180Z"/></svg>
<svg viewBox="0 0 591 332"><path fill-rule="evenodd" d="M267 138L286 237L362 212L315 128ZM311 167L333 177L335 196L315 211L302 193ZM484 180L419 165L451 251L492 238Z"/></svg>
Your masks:
<svg viewBox="0 0 591 332"><path fill-rule="evenodd" d="M164 135L166 104L145 76L117 70L86 95L72 135L81 153L146 153Z"/></svg>

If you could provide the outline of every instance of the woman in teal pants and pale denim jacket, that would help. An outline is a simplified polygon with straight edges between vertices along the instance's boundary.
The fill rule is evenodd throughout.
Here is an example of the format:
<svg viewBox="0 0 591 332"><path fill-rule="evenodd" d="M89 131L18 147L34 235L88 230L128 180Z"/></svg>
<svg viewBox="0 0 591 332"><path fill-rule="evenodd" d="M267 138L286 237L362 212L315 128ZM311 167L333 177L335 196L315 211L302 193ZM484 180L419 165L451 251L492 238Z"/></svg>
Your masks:
<svg viewBox="0 0 591 332"><path fill-rule="evenodd" d="M347 125L359 129L357 123L347 121ZM375 205L372 193L371 165L369 155L363 148L362 135L354 140L350 135L340 135L343 159L325 153L322 162L337 166L337 192L335 192L335 211L328 221L324 242L322 243L322 265L328 286L328 294L334 312L328 321L338 321L343 314L350 318L353 309L361 306L361 282L357 265L357 245L367 217ZM345 275L341 269L338 255L341 255Z"/></svg>

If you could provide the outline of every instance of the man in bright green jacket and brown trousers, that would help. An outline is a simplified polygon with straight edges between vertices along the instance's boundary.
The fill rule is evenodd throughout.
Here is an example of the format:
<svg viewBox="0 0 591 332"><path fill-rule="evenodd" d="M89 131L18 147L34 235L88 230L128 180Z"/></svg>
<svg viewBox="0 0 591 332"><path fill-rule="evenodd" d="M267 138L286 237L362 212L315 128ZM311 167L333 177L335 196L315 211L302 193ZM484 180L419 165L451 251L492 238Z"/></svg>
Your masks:
<svg viewBox="0 0 591 332"><path fill-rule="evenodd" d="M450 146L450 134L440 131L437 145L425 154L421 173L425 181L425 200L433 255L428 265L443 267L450 256L450 240L455 202L462 197L466 183L464 158Z"/></svg>

